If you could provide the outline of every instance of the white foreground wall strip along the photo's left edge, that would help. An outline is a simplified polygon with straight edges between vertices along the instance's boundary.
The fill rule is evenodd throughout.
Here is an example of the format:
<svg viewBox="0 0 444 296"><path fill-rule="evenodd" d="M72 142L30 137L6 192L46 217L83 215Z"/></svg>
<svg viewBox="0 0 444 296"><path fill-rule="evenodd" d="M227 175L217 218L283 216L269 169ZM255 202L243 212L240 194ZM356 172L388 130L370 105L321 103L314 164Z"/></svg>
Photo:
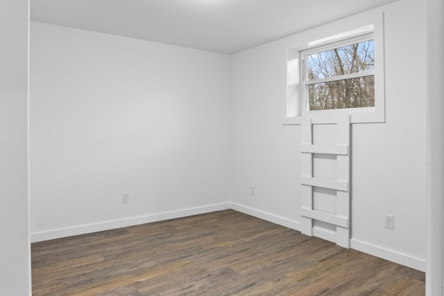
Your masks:
<svg viewBox="0 0 444 296"><path fill-rule="evenodd" d="M28 1L0 0L0 295L31 295Z"/></svg>

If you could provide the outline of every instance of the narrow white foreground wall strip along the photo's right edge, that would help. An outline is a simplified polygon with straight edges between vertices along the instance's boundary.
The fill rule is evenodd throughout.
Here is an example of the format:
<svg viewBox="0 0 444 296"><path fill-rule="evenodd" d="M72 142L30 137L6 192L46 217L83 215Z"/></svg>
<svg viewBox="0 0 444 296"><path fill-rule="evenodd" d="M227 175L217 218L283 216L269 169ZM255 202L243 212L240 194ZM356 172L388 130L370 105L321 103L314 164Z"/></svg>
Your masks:
<svg viewBox="0 0 444 296"><path fill-rule="evenodd" d="M427 0L427 270L426 295L444 283L444 3Z"/></svg>

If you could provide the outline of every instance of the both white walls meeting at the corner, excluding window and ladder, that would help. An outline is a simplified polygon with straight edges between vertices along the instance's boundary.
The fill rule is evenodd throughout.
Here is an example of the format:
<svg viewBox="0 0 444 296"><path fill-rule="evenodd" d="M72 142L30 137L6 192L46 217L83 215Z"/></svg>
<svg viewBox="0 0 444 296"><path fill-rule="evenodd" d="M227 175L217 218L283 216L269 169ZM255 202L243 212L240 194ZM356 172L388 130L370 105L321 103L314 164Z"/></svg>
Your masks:
<svg viewBox="0 0 444 296"><path fill-rule="evenodd" d="M386 122L352 126L352 247L425 270L425 4L375 11L385 15ZM228 57L31 28L34 241L228 202L300 228L300 126L282 126L284 40Z"/></svg>

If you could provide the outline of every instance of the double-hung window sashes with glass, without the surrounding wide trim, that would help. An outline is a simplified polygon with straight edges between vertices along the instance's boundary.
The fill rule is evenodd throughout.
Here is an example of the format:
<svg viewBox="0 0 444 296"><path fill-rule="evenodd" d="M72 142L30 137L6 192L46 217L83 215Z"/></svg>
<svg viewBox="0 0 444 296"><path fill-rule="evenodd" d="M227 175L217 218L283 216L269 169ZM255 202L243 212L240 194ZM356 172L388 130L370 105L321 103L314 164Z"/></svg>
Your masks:
<svg viewBox="0 0 444 296"><path fill-rule="evenodd" d="M373 35L301 51L302 109L375 107Z"/></svg>

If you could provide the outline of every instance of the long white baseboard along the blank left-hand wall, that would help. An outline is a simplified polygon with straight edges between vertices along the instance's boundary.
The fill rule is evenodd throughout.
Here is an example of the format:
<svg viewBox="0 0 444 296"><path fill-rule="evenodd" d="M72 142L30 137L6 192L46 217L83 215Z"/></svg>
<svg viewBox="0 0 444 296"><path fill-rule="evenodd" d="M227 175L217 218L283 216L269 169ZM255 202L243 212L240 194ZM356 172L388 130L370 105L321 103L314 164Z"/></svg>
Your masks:
<svg viewBox="0 0 444 296"><path fill-rule="evenodd" d="M198 214L206 214L212 211L222 211L224 209L231 209L231 204L212 204L206 207L196 207L191 209L181 209L178 211L168 211L164 213L152 214L147 216L139 216L139 217L106 221L96 224L55 229L47 232L35 232L31 234L31 243L36 243L37 241L48 241L50 239L63 238L67 236L76 236L79 234L101 232L103 230L116 229L116 228L140 225L145 223L152 223L162 220L182 218Z"/></svg>

